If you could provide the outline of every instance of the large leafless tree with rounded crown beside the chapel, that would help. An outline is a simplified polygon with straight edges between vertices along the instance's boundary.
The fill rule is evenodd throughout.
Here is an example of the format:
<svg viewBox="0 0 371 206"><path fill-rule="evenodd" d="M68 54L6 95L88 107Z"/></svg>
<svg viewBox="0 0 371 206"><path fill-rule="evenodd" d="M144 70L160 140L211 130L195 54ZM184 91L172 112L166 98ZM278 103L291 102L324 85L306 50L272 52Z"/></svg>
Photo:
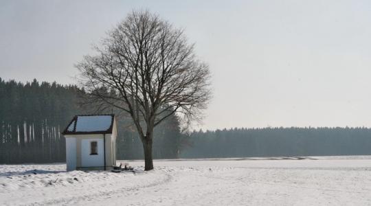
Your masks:
<svg viewBox="0 0 371 206"><path fill-rule="evenodd" d="M209 68L183 30L148 11L129 14L95 51L76 65L80 83L100 108L131 116L145 170L152 170L153 129L174 113L188 121L200 117L211 97Z"/></svg>

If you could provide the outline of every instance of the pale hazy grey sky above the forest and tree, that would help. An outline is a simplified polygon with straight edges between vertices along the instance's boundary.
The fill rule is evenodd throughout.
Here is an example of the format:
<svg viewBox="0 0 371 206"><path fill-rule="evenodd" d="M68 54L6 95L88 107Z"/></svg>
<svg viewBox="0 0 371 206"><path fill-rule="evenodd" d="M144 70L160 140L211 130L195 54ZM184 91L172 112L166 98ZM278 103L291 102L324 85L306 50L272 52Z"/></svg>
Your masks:
<svg viewBox="0 0 371 206"><path fill-rule="evenodd" d="M371 126L371 1L0 1L0 77L74 84L91 44L141 8L209 63L202 128Z"/></svg>

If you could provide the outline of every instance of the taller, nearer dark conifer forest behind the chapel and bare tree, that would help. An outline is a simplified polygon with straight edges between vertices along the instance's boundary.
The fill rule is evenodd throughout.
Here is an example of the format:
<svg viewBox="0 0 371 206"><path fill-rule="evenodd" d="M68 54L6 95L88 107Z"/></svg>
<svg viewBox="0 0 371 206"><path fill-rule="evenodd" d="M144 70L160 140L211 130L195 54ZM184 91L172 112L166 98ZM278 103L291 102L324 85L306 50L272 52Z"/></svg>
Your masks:
<svg viewBox="0 0 371 206"><path fill-rule="evenodd" d="M65 138L60 134L81 108L84 91L76 85L33 80L25 84L0 78L0 163L65 161ZM131 120L117 117L117 159L142 159L142 143ZM177 158L183 148L176 116L155 130L154 158Z"/></svg>

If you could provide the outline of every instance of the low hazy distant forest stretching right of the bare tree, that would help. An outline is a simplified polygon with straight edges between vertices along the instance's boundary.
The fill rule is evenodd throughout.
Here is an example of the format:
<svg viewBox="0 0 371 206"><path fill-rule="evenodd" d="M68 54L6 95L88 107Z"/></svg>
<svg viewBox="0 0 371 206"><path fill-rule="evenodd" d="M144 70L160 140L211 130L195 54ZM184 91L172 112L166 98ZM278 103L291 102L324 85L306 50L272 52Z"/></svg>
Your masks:
<svg viewBox="0 0 371 206"><path fill-rule="evenodd" d="M194 131L182 158L371 155L370 128L232 128Z"/></svg>

